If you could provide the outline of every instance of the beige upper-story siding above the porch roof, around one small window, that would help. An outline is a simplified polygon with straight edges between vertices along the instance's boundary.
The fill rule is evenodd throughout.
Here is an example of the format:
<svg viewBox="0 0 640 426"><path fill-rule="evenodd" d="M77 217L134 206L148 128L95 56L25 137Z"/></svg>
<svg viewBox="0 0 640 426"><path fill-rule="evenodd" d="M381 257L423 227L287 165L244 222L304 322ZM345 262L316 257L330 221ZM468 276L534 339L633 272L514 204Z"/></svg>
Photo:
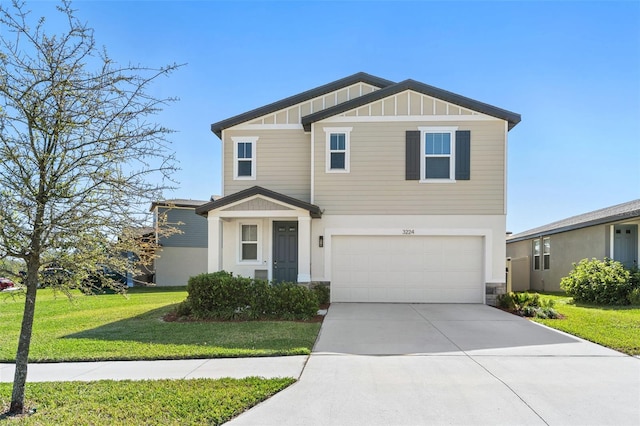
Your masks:
<svg viewBox="0 0 640 426"><path fill-rule="evenodd" d="M256 179L233 179L236 136L258 136ZM311 190L310 136L302 130L226 130L224 132L224 195L258 185L309 202Z"/></svg>

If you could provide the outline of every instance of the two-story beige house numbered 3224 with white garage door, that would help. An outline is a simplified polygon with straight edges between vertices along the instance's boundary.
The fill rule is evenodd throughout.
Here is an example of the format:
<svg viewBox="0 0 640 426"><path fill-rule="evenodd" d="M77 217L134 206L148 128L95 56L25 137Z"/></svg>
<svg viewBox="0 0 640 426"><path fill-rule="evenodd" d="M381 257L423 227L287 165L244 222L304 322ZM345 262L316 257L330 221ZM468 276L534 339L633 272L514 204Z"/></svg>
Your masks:
<svg viewBox="0 0 640 426"><path fill-rule="evenodd" d="M214 123L208 270L330 283L333 302L483 303L504 287L520 115L365 73Z"/></svg>

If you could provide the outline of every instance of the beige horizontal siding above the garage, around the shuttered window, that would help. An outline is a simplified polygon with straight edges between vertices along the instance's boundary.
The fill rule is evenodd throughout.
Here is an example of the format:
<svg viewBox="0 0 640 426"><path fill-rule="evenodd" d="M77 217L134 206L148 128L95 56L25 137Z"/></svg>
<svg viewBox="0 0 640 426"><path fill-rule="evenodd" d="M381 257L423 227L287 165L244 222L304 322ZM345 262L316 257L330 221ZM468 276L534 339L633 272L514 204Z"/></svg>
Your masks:
<svg viewBox="0 0 640 426"><path fill-rule="evenodd" d="M314 126L313 202L325 214L503 214L503 121L341 122L339 126L353 128L350 173L325 172L324 127L336 127L336 123ZM405 180L405 131L419 126L471 131L471 180Z"/></svg>

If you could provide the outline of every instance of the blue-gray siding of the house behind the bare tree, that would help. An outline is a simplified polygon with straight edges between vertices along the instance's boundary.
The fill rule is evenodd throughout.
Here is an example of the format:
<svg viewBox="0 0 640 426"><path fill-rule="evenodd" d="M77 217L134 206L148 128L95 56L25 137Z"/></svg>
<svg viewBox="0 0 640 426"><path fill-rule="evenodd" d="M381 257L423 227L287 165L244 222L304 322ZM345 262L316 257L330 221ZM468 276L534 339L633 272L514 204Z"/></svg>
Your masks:
<svg viewBox="0 0 640 426"><path fill-rule="evenodd" d="M195 213L195 209L158 207L159 214L167 214L167 224L182 231L168 237L160 236L163 247L207 247L207 219Z"/></svg>

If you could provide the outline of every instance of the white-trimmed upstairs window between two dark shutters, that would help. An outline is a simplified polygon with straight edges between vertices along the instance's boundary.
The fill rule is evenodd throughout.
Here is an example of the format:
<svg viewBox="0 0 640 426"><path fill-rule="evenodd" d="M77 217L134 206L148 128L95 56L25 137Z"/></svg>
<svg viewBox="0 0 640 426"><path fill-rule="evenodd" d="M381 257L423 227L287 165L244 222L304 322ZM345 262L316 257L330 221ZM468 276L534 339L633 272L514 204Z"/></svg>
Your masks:
<svg viewBox="0 0 640 426"><path fill-rule="evenodd" d="M421 181L455 180L457 127L419 127L421 132Z"/></svg>

